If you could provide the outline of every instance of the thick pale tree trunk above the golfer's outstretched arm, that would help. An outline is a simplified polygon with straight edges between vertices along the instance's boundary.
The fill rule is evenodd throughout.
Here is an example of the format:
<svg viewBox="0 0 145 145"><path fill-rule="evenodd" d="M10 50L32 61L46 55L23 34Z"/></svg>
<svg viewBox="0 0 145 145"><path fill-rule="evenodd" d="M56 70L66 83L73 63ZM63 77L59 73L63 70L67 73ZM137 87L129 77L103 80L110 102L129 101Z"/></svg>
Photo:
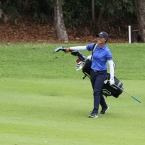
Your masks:
<svg viewBox="0 0 145 145"><path fill-rule="evenodd" d="M62 0L54 0L54 28L57 40L68 41L68 36L63 20Z"/></svg>

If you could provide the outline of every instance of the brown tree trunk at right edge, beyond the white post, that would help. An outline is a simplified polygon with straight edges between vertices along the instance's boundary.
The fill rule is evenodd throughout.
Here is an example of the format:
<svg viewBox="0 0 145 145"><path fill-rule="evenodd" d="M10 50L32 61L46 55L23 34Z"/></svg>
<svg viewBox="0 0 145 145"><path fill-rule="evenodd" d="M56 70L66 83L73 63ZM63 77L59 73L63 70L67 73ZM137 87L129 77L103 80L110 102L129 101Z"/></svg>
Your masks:
<svg viewBox="0 0 145 145"><path fill-rule="evenodd" d="M142 42L145 42L145 0L134 0L137 12L139 34Z"/></svg>

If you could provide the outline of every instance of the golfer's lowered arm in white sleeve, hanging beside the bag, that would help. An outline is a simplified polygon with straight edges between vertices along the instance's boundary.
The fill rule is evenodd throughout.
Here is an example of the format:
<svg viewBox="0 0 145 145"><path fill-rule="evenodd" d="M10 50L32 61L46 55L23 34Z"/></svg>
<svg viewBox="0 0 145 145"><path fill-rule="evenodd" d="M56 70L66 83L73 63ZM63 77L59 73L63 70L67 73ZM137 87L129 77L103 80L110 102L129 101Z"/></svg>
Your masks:
<svg viewBox="0 0 145 145"><path fill-rule="evenodd" d="M113 60L108 60L110 66L110 85L114 84L114 62Z"/></svg>

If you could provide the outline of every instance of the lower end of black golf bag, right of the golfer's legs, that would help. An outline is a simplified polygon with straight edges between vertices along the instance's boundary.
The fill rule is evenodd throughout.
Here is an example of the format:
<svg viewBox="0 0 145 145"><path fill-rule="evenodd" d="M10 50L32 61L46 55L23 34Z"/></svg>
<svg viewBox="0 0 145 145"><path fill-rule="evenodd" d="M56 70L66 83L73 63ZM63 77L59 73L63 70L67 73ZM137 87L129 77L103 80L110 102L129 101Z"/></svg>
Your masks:
<svg viewBox="0 0 145 145"><path fill-rule="evenodd" d="M109 81L107 80L110 80L110 74L107 73L107 76L106 76L106 83L104 83L103 87L102 87L102 94L104 96L113 96L115 98L118 98L119 95L123 92L123 84L116 78L114 77L114 81L115 81L115 84L110 86L109 84Z"/></svg>

